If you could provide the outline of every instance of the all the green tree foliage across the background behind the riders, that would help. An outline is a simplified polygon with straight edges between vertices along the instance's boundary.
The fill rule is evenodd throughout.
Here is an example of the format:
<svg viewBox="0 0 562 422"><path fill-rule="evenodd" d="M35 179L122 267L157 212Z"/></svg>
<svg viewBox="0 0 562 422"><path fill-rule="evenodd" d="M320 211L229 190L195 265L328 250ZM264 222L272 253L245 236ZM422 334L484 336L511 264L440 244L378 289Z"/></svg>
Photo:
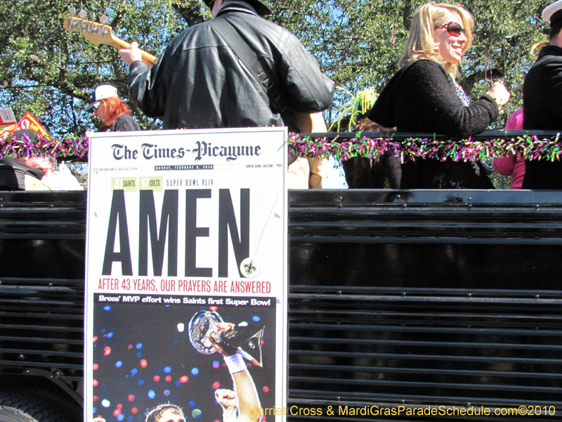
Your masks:
<svg viewBox="0 0 562 422"><path fill-rule="evenodd" d="M511 91L502 119L521 107L523 72L530 68L530 46L547 39L540 18L551 0L462 0L476 17L473 47L462 62L459 82L471 98L502 78ZM327 120L355 93L380 92L398 70L414 9L420 0L276 0L276 23L292 30L318 58L338 87ZM109 17L117 37L136 40L158 55L171 37L209 18L200 0L4 0L0 9L0 106L17 117L31 111L53 136L82 136L93 127L84 112L93 87L114 84L128 98L127 68L110 46L93 46L81 34L63 29L71 6L84 7L89 20ZM144 128L159 121L138 110ZM333 114L333 116L332 116Z"/></svg>

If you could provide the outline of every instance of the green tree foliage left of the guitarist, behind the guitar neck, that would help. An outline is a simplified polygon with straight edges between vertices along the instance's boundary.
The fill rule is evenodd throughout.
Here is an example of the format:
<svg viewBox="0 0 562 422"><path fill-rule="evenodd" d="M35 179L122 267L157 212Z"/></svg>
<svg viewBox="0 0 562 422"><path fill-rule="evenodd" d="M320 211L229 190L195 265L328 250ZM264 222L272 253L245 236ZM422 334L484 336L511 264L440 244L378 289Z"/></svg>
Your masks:
<svg viewBox="0 0 562 422"><path fill-rule="evenodd" d="M5 2L6 3L6 2ZM16 117L31 111L53 136L82 136L93 121L84 106L93 87L106 82L127 98L128 70L111 46L93 46L78 32L63 29L70 0L8 0L0 11L0 106L11 106ZM157 55L183 30L185 21L174 10L178 1L92 0L86 19L109 17L113 33L136 40ZM202 6L197 3L197 8ZM140 113L136 113L140 115ZM142 119L146 128L157 121Z"/></svg>

